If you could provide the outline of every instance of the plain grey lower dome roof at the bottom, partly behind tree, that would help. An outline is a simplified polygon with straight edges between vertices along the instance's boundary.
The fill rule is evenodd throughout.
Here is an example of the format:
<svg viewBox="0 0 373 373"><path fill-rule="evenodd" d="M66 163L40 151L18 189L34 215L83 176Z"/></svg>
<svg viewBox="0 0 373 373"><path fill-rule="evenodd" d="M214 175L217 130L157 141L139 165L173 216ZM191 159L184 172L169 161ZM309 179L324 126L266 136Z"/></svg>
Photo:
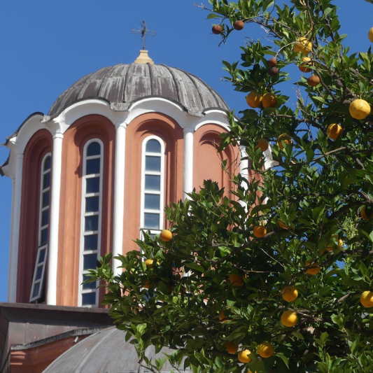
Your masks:
<svg viewBox="0 0 373 373"><path fill-rule="evenodd" d="M163 353L171 353L169 349L162 349L155 354L154 347L146 350L148 358L164 358ZM173 368L168 361L162 367L162 373L169 373ZM146 368L139 365L134 345L125 342L125 332L116 328L108 328L98 332L57 358L43 373L145 373ZM191 370L181 372L192 373Z"/></svg>

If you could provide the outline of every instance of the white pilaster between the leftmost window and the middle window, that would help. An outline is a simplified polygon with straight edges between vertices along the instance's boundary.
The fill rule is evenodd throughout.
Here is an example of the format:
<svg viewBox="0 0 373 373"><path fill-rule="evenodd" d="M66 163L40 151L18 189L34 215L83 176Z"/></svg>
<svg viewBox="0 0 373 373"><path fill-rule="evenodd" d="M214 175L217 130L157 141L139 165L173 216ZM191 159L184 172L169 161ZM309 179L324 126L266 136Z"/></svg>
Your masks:
<svg viewBox="0 0 373 373"><path fill-rule="evenodd" d="M53 134L52 186L50 189L50 225L48 246L48 282L46 303L56 305L58 267L59 197L61 191L62 139L64 135Z"/></svg>

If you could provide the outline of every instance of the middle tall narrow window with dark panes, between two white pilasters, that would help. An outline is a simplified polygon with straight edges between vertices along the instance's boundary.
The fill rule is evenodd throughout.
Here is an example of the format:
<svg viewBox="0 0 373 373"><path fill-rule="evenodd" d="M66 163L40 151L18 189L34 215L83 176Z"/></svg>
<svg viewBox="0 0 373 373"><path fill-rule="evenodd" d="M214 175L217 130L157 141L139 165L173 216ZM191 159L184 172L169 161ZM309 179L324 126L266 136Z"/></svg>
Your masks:
<svg viewBox="0 0 373 373"><path fill-rule="evenodd" d="M81 284L89 269L96 268L101 244L101 199L104 146L99 139L88 141L83 149L82 221L80 235L79 306L97 307L97 283Z"/></svg>

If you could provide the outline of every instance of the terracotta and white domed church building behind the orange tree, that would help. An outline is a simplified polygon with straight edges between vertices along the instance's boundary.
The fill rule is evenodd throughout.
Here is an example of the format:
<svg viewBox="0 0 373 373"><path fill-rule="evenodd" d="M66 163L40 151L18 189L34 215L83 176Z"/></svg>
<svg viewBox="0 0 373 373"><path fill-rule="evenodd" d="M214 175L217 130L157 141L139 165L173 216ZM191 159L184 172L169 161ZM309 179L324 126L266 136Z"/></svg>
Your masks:
<svg viewBox="0 0 373 373"><path fill-rule="evenodd" d="M0 373L147 372L123 332L108 328L104 289L82 283L99 256L136 250L142 230L167 229L164 206L204 179L229 190L229 173L250 174L239 148L217 152L227 110L202 79L154 64L141 50L132 64L84 76L47 115L32 113L8 136L0 173L11 178L13 195Z"/></svg>

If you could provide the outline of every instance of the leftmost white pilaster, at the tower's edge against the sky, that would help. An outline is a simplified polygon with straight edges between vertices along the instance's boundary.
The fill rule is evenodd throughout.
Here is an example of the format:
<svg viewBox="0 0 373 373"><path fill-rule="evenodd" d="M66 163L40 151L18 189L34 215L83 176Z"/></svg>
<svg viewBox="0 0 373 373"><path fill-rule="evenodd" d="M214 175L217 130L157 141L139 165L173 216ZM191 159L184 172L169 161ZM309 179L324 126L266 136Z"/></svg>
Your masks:
<svg viewBox="0 0 373 373"><path fill-rule="evenodd" d="M22 199L23 154L15 155L15 178L13 182L12 225L10 227L10 253L8 274L8 302L15 303L17 295L18 246L20 243L20 216Z"/></svg>

